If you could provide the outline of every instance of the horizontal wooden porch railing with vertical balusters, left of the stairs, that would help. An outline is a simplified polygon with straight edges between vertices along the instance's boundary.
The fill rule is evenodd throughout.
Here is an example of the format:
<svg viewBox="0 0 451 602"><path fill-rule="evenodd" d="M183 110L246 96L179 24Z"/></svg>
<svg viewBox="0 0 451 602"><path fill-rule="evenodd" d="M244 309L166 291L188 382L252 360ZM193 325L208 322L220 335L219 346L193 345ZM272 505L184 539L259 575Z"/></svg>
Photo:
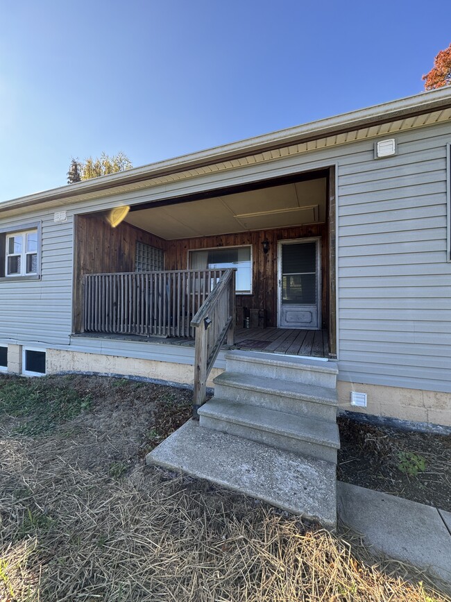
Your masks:
<svg viewBox="0 0 451 602"><path fill-rule="evenodd" d="M86 333L194 337L193 317L228 269L86 274ZM219 284L218 284L219 285Z"/></svg>

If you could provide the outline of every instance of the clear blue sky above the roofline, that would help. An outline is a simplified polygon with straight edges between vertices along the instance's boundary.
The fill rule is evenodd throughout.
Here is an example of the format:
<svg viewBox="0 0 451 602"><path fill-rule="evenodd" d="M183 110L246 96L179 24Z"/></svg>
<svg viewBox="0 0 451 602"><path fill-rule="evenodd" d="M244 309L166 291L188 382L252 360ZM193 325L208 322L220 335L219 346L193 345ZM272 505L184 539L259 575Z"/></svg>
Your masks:
<svg viewBox="0 0 451 602"><path fill-rule="evenodd" d="M423 90L451 1L0 0L0 201Z"/></svg>

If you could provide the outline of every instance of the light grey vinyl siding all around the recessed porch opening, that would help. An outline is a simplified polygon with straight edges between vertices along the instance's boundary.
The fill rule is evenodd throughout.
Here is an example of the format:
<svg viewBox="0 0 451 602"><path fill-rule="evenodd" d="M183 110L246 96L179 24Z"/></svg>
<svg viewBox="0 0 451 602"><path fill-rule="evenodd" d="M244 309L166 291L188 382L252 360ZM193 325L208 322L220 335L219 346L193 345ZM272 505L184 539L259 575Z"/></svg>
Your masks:
<svg viewBox="0 0 451 602"><path fill-rule="evenodd" d="M447 262L446 144L451 123L391 134L398 154L375 160L373 140L285 155L67 205L0 226L42 219L42 280L0 283L0 342L40 343L131 357L180 358L192 350L70 339L74 212L142 203L337 165L339 378L451 392L451 263ZM155 349L154 349L155 347ZM167 346L164 346L167 347Z"/></svg>

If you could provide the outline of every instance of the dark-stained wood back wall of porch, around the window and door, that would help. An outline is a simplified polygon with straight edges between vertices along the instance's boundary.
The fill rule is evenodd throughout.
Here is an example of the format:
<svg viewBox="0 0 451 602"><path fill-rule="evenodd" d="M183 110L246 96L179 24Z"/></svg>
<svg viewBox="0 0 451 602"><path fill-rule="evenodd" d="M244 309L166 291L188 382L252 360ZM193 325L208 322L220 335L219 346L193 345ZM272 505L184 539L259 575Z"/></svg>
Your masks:
<svg viewBox="0 0 451 602"><path fill-rule="evenodd" d="M166 269L187 269L188 251L211 247L251 244L253 247L253 294L237 295L237 306L247 309L265 309L266 325L277 326L277 276L278 241L294 238L321 236L321 322L322 328L329 322L329 251L327 225L296 226L240 234L206 236L167 241ZM269 252L262 249L262 241L269 240Z"/></svg>

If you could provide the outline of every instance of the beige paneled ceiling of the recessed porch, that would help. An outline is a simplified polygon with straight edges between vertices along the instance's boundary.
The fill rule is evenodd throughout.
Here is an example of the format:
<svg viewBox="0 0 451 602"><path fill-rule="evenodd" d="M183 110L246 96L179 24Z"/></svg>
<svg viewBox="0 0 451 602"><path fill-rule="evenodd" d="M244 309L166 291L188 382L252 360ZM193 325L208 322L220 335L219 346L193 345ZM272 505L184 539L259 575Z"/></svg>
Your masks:
<svg viewBox="0 0 451 602"><path fill-rule="evenodd" d="M303 226L325 221L325 199L318 178L133 211L126 221L167 240Z"/></svg>

